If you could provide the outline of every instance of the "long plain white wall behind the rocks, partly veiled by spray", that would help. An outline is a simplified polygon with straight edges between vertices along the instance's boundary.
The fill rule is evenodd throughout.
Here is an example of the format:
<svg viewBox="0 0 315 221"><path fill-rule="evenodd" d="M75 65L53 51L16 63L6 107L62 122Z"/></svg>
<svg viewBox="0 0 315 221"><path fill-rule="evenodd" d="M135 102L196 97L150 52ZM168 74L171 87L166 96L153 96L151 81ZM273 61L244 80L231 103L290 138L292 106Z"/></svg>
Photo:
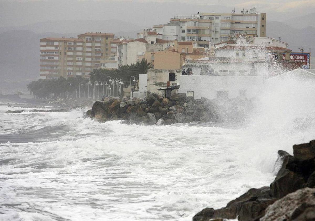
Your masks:
<svg viewBox="0 0 315 221"><path fill-rule="evenodd" d="M249 76L177 76L180 85L178 93L194 92L194 98L217 98L218 91L227 91L228 98L240 96L241 90L245 90L247 98L258 95L263 85L262 77Z"/></svg>

